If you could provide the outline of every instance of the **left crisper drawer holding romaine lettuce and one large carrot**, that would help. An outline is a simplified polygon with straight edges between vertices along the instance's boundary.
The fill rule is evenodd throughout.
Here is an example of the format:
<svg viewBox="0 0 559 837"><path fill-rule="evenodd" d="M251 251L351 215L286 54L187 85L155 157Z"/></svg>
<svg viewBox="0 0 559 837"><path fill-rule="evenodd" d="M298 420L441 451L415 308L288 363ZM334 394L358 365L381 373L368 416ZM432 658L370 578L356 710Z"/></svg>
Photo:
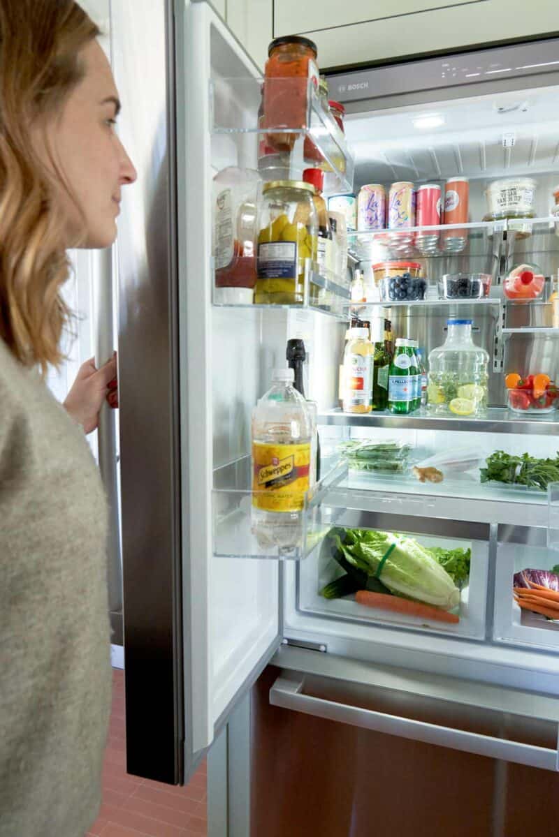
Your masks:
<svg viewBox="0 0 559 837"><path fill-rule="evenodd" d="M329 496L330 507L335 506L334 494L335 492ZM485 639L489 524L439 518L436 516L437 506L433 498L420 498L414 502L414 498L407 496L386 496L375 491L363 492L362 496L361 492L341 491L339 501L344 501L346 505L334 516L335 526L330 527L329 534L323 537L319 546L298 567L297 608L300 614L319 615L338 623L340 620L347 620L414 632L428 631L468 639ZM356 533L355 530L360 532ZM379 534L366 534L371 532ZM392 552L386 559L391 565L381 567L380 573L378 568L373 568L371 572L370 567L375 567L375 561L378 567L379 557L382 560L391 548L395 534L412 539L412 542L407 544L410 547L409 555L406 550L401 551L398 542L396 552ZM346 542L360 542L361 538L362 547L350 547L354 566L356 562L358 566L366 569L369 575L376 575L381 583L384 578L386 585L391 587L391 592L396 593L396 596L382 599L371 597L370 602L365 605L358 603L357 598L360 596L349 589L346 594L327 598L332 592L345 593L343 587L337 588L335 585L339 578L344 577L344 571L348 570L347 564L340 559L344 557L343 549ZM371 539L371 547L365 542L367 538ZM386 549L383 547L384 543ZM363 553L360 552L361 548ZM368 552L369 548L372 552ZM416 548L417 554L414 554ZM455 606L440 604L435 608L435 613L431 614L427 614L422 608L414 612L411 599L435 604L435 598L441 594L446 595L444 583L442 587L437 573L431 574L434 572L430 560L435 554L431 552L433 549L438 553L441 562L444 557L450 557L450 551L463 551L462 557L459 557L460 553L455 553L457 558L453 569L458 568L458 562L463 562L463 558L469 555L469 578L456 585L451 583L448 594L455 601ZM444 556L441 556L441 551L444 551ZM397 591L393 586L395 577L391 573L400 573L402 586ZM349 582L349 579L346 580ZM359 578L357 581L359 582ZM331 587L327 588L327 585L332 583L334 591ZM355 588L355 584L353 586ZM368 582L367 587L369 586ZM374 582L372 586L375 586ZM447 608L453 621L442 620L448 616ZM438 618L435 618L436 615Z"/></svg>

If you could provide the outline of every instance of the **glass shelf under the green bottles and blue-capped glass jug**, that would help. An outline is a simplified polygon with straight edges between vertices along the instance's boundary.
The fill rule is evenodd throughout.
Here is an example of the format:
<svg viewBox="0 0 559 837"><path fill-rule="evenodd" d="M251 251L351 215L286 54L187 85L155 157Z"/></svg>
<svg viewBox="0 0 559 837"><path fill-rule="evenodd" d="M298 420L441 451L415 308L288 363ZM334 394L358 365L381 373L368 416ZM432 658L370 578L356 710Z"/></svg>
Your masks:
<svg viewBox="0 0 559 837"><path fill-rule="evenodd" d="M534 414L532 414L534 415ZM476 433L529 433L534 435L559 435L559 421L551 419L553 413L528 418L511 413L505 407L490 407L483 417L468 419L451 416L433 416L426 410L409 415L380 413L344 413L336 408L318 415L318 424L337 424L348 427L401 428L418 430L473 430Z"/></svg>

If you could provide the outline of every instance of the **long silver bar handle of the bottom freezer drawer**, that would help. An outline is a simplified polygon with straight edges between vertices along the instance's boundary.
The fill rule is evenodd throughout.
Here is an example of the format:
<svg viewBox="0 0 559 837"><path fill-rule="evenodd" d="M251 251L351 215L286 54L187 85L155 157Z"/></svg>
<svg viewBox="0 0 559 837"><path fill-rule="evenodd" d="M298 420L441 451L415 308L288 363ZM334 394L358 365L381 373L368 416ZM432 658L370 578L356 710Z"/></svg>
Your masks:
<svg viewBox="0 0 559 837"><path fill-rule="evenodd" d="M425 721L414 721L411 718L360 709L358 706L325 701L323 698L303 695L303 685L303 677L297 680L284 676L278 677L270 690L270 703L272 706L282 706L283 709L304 712L306 715L326 718L329 721L339 721L339 723L350 724L352 727L386 732L388 735L437 744L439 747L451 747L463 752L474 752L479 756L500 758L506 762L527 764L531 768L559 770L557 749L534 747L531 744L506 741L502 738L481 735L478 732L439 727L437 724Z"/></svg>

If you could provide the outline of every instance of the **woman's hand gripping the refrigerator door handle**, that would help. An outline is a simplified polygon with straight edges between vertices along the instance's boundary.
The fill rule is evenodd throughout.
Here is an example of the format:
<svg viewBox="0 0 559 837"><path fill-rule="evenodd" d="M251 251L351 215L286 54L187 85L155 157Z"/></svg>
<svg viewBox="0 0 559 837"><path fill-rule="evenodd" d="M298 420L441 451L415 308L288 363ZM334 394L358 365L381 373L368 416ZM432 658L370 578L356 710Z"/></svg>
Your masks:
<svg viewBox="0 0 559 837"><path fill-rule="evenodd" d="M84 432L91 433L99 424L99 411L105 398L112 408L118 407L116 352L100 369L96 368L93 357L82 363L64 406Z"/></svg>

